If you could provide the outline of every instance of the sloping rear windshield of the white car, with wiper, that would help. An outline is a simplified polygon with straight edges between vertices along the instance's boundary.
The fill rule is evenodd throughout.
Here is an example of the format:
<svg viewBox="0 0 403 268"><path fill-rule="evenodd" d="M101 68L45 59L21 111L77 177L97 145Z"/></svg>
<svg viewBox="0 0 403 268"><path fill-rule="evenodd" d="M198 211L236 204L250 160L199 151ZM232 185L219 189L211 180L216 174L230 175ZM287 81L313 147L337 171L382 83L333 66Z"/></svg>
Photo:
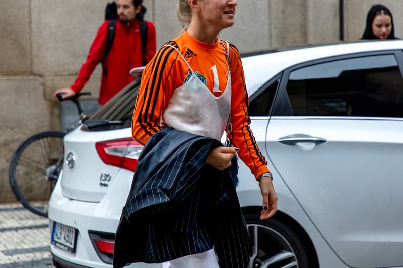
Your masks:
<svg viewBox="0 0 403 268"><path fill-rule="evenodd" d="M129 83L113 96L81 127L83 131L104 131L128 128L139 91L139 79Z"/></svg>

